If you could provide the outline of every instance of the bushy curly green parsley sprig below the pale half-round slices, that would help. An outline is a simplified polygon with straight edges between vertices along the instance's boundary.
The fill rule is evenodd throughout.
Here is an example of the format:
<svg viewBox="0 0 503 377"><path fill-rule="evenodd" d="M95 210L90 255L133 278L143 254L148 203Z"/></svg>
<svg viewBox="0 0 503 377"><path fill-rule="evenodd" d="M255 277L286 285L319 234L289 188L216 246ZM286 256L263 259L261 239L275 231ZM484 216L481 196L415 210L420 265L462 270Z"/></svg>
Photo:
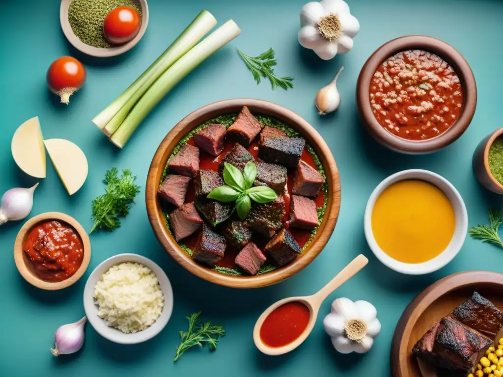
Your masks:
<svg viewBox="0 0 503 377"><path fill-rule="evenodd" d="M126 216L129 208L133 204L136 194L140 192L140 186L134 181L131 170L122 170L122 176L119 178L119 172L116 167L111 168L105 174L103 183L107 185L104 195L100 195L93 201L93 228L114 230L121 225L119 216Z"/></svg>

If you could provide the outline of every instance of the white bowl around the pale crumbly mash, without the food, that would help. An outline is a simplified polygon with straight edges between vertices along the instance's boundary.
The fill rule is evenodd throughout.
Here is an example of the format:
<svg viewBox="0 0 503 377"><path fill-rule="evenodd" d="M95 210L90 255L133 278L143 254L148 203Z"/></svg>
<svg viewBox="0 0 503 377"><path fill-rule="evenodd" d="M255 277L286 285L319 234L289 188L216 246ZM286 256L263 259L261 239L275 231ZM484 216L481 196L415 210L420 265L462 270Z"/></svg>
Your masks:
<svg viewBox="0 0 503 377"><path fill-rule="evenodd" d="M110 267L123 263L136 262L150 268L159 280L160 289L164 295L164 307L157 320L147 329L135 333L125 334L113 327L108 327L105 321L98 317L98 306L95 305L94 289L101 276L109 270ZM170 280L164 271L153 261L138 254L119 254L114 255L98 265L89 276L84 288L84 310L88 321L94 327L96 332L104 338L120 344L136 344L153 338L166 326L173 312L173 289Z"/></svg>

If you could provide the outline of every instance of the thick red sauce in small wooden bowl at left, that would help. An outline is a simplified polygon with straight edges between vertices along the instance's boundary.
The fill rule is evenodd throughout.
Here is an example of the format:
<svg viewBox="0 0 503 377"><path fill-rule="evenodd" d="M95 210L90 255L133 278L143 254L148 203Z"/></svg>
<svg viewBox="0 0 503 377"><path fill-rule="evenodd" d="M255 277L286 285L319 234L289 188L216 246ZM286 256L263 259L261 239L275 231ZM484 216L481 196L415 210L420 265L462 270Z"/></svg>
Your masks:
<svg viewBox="0 0 503 377"><path fill-rule="evenodd" d="M75 230L55 220L34 227L23 243L23 250L36 275L53 282L73 275L84 257L84 246Z"/></svg>

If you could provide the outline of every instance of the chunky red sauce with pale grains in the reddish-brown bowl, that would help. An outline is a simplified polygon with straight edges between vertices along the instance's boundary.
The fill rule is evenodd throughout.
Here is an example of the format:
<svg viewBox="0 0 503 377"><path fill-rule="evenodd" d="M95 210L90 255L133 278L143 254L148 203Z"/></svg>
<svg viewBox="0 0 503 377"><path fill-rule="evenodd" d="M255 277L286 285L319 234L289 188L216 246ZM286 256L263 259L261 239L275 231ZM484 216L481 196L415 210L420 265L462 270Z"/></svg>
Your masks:
<svg viewBox="0 0 503 377"><path fill-rule="evenodd" d="M452 127L463 108L463 90L454 69L422 50L399 52L383 62L370 83L377 122L408 140L428 140Z"/></svg>

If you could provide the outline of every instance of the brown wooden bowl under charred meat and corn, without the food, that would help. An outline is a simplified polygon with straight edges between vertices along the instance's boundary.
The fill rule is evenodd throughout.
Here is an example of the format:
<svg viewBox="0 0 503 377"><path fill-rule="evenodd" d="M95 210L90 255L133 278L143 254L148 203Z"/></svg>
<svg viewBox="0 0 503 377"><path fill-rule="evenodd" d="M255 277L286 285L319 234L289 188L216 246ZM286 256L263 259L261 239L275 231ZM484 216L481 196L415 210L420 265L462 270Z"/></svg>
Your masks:
<svg viewBox="0 0 503 377"><path fill-rule="evenodd" d="M466 301L474 291L503 310L503 274L488 271L454 273L434 282L410 302L396 325L391 343L393 377L436 375L426 363L423 373L420 371L417 359L412 356L412 347L436 321Z"/></svg>

